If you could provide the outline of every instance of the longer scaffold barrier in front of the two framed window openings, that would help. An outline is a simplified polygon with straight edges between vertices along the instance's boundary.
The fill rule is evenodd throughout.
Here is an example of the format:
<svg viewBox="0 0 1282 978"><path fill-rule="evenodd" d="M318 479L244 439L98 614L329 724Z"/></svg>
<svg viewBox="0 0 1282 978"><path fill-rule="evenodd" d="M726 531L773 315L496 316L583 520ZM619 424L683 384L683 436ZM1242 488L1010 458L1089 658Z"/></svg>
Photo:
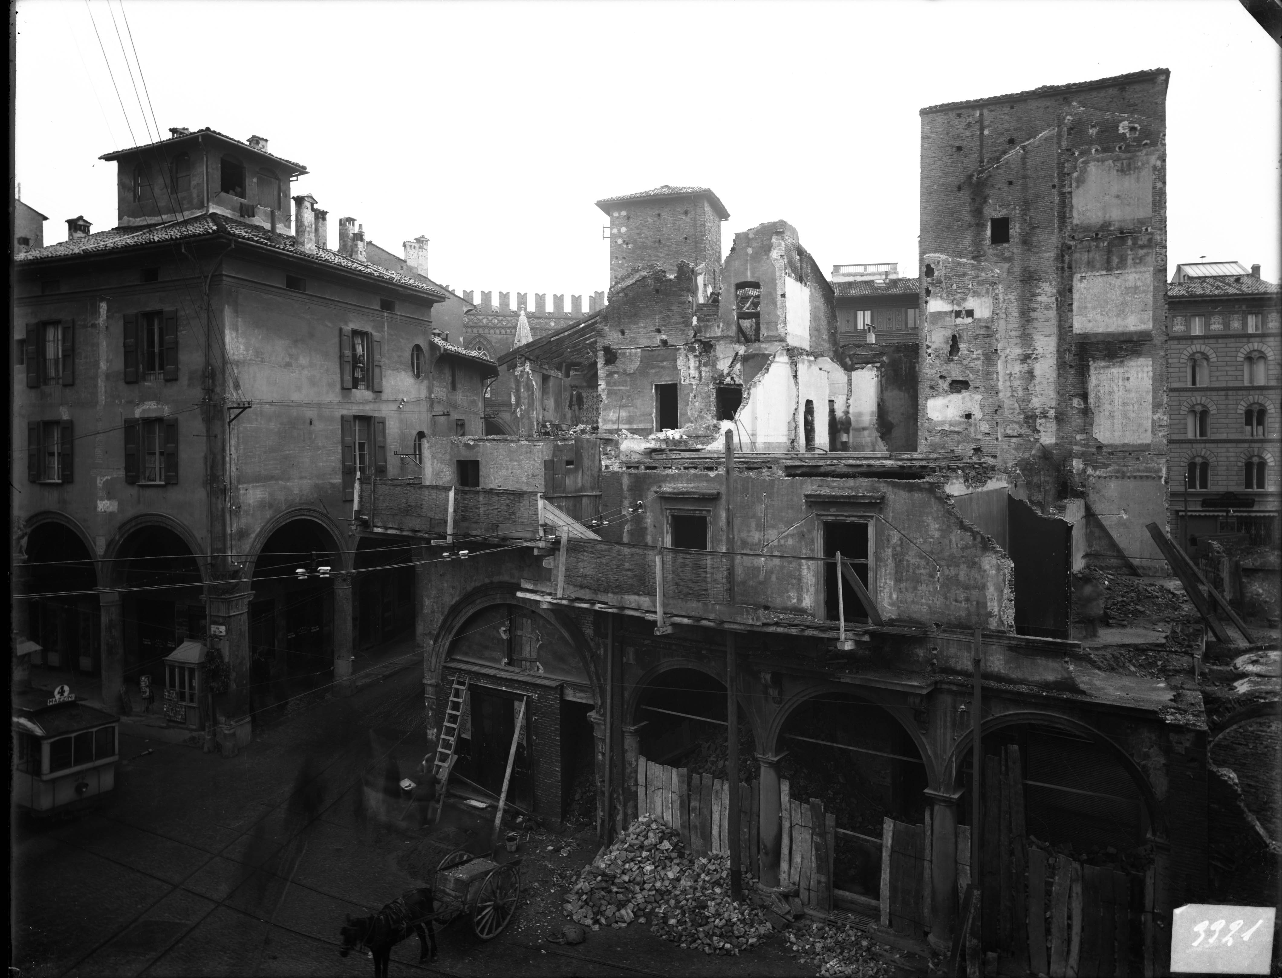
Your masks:
<svg viewBox="0 0 1282 978"><path fill-rule="evenodd" d="M822 622L827 629L836 626L823 613L823 574L831 564L805 556L660 550L570 537L564 550L558 545L551 581L523 581L522 587L540 597L586 600L668 617L744 624ZM846 614L860 617L860 609L847 608Z"/></svg>

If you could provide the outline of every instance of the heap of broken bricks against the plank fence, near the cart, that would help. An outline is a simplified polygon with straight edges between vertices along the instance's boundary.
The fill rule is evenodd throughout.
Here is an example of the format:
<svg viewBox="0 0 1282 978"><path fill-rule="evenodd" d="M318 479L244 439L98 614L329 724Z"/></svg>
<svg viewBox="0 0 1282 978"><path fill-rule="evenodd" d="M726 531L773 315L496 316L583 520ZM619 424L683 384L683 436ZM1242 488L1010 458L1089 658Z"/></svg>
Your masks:
<svg viewBox="0 0 1282 978"><path fill-rule="evenodd" d="M563 909L594 931L649 923L665 941L709 955L737 955L770 933L764 910L729 899L724 854L692 859L677 831L651 815L583 869Z"/></svg>

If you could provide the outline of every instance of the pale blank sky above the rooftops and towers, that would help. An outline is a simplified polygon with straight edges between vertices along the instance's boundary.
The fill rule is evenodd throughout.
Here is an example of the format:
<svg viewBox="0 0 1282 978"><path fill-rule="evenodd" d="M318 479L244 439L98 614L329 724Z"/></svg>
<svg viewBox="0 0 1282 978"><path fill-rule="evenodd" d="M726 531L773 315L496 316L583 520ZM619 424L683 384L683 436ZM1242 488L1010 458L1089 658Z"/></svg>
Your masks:
<svg viewBox="0 0 1282 978"><path fill-rule="evenodd" d="M1238 0L22 0L18 31L46 244L115 224L101 154L208 126L303 163L331 247L426 235L455 291L605 290L594 201L663 183L717 192L726 250L785 219L914 274L922 106L1168 68L1169 270L1282 274L1279 47Z"/></svg>

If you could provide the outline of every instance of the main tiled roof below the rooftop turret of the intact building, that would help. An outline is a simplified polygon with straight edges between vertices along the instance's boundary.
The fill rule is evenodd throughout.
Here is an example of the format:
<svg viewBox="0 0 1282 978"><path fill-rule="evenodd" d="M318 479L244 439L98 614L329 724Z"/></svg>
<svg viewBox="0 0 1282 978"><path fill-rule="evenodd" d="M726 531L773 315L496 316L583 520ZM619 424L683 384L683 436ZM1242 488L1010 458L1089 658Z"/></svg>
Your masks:
<svg viewBox="0 0 1282 978"><path fill-rule="evenodd" d="M278 251L287 251L295 258L308 261L318 261L324 265L337 267L345 272L355 272L358 274L369 276L370 278L378 278L385 282L394 282L399 286L424 292L436 299L445 299L445 294L442 291L431 286L419 276L403 274L400 272L392 272L382 268L381 265L364 264L362 261L356 261L354 258L346 258L340 255L337 251L329 251L328 249L318 247L315 251L301 251L294 237L288 235L273 235L271 231L259 227L258 224L235 220L232 218L226 218L222 214L197 214L196 217L187 218L186 220L174 220L168 224L153 224L146 228L112 228L110 231L100 231L96 235L71 238L56 245L50 245L49 247L41 247L15 255L14 260L19 264L27 264L31 261L44 261L55 258L97 255L129 247L163 245L169 241L187 241L210 235L229 235L231 237L241 241L262 245L264 247L272 247Z"/></svg>

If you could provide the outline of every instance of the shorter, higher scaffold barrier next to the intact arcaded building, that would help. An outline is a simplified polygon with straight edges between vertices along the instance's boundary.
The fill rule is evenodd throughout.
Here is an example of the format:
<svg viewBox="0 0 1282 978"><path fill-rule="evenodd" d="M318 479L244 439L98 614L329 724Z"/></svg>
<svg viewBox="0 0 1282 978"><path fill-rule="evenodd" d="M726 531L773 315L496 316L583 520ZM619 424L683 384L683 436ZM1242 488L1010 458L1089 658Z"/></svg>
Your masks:
<svg viewBox="0 0 1282 978"><path fill-rule="evenodd" d="M362 499L370 527L433 537L537 540L538 492L377 479Z"/></svg>

